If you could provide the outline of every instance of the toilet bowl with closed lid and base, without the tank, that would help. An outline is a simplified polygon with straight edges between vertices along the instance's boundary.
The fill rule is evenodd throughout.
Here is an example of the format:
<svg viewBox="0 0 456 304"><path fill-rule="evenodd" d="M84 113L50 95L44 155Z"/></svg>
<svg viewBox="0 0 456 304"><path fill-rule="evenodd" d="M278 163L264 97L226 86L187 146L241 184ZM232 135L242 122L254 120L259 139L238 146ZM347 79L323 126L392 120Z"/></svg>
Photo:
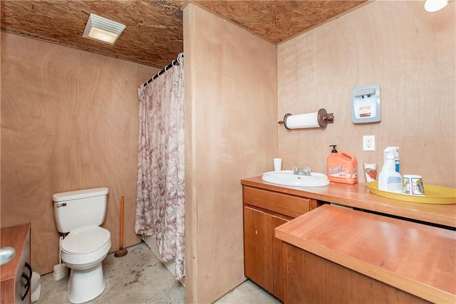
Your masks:
<svg viewBox="0 0 456 304"><path fill-rule="evenodd" d="M101 262L111 247L110 233L100 226L73 231L61 244L62 261L71 268L67 296L71 303L84 303L105 290Z"/></svg>

